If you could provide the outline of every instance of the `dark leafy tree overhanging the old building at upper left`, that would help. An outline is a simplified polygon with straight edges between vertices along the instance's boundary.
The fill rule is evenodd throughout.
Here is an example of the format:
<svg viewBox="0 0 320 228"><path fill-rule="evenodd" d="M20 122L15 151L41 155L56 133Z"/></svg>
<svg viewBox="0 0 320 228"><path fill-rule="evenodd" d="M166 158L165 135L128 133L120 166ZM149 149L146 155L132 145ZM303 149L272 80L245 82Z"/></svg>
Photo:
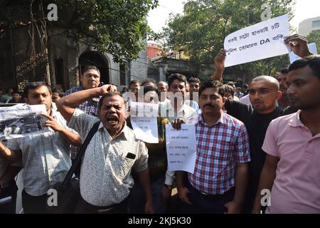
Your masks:
<svg viewBox="0 0 320 228"><path fill-rule="evenodd" d="M47 20L49 4L58 6L58 21ZM4 0L0 2L0 37L10 27L24 26L44 41L48 29L58 28L77 43L111 53L116 62L133 60L139 57L149 31L146 15L157 4L158 0ZM6 11L8 7L15 14Z"/></svg>

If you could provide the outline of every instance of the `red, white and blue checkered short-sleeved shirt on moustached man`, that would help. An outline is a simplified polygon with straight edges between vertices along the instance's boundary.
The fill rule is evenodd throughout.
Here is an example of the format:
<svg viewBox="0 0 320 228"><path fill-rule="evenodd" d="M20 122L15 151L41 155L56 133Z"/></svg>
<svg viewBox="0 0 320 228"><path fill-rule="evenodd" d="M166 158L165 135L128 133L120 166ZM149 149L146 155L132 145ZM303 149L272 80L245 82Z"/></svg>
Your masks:
<svg viewBox="0 0 320 228"><path fill-rule="evenodd" d="M197 157L193 174L188 180L196 190L217 195L235 186L237 162L250 162L249 138L245 125L221 112L211 128L199 114L188 124L196 125Z"/></svg>

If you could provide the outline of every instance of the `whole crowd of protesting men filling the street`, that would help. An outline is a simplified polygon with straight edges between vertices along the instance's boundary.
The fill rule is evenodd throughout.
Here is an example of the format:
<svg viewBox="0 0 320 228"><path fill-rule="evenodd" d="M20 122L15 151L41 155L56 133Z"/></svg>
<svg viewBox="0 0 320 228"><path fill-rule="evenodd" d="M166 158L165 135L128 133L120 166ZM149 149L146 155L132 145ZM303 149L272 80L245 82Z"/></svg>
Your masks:
<svg viewBox="0 0 320 228"><path fill-rule="evenodd" d="M0 199L12 198L0 213L15 212L22 168L23 212L46 213L48 190L64 180L97 123L75 172L74 213L319 214L320 56L310 53L304 36L285 42L301 59L242 88L222 83L226 54L220 50L207 81L174 73L167 82L133 80L119 93L117 86L101 86L99 69L87 66L81 86L65 93L44 82L29 83L23 93L1 91L1 103L46 105L51 130L0 141ZM159 104L159 143L134 135L134 101ZM196 128L196 165L193 173L172 172L166 125L180 130L185 123Z"/></svg>

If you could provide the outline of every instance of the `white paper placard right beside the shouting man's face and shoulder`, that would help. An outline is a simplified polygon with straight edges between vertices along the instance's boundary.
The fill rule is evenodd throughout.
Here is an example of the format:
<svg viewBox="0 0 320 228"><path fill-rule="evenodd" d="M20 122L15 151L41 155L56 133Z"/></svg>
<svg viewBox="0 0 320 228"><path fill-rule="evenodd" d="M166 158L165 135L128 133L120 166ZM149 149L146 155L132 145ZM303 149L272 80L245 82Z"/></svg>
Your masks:
<svg viewBox="0 0 320 228"><path fill-rule="evenodd" d="M159 143L156 117L132 117L130 121L137 139L149 143Z"/></svg>

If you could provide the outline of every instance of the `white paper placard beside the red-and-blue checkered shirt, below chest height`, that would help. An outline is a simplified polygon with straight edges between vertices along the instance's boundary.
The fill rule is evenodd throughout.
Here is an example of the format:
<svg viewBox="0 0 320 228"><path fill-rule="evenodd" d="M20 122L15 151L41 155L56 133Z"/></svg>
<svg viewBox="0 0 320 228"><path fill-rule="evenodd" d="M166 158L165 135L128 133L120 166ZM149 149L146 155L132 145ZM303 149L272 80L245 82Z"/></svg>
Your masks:
<svg viewBox="0 0 320 228"><path fill-rule="evenodd" d="M166 153L169 171L194 172L196 165L196 127L182 124L181 130L166 125Z"/></svg>

